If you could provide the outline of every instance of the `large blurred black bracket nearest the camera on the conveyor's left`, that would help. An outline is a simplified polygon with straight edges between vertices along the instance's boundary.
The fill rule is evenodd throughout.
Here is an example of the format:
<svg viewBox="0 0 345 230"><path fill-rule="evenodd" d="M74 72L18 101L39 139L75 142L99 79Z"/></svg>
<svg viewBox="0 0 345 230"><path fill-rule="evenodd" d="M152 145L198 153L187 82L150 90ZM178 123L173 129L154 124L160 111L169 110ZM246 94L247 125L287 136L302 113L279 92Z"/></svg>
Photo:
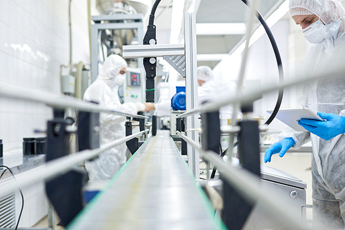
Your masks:
<svg viewBox="0 0 345 230"><path fill-rule="evenodd" d="M48 121L47 162L68 155L70 144L70 133L66 131L68 125L69 123L61 117ZM87 180L86 171L75 168L46 182L47 196L57 211L61 224L65 227L83 209L81 187Z"/></svg>

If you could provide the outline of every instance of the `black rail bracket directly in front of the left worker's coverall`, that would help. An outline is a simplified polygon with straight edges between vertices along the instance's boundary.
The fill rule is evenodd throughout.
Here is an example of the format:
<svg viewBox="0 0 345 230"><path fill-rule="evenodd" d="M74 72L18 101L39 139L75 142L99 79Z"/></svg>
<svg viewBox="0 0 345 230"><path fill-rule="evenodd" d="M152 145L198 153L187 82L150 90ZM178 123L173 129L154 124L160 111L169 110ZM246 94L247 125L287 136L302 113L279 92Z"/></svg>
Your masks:
<svg viewBox="0 0 345 230"><path fill-rule="evenodd" d="M78 145L79 151L99 147L99 113L79 112Z"/></svg>

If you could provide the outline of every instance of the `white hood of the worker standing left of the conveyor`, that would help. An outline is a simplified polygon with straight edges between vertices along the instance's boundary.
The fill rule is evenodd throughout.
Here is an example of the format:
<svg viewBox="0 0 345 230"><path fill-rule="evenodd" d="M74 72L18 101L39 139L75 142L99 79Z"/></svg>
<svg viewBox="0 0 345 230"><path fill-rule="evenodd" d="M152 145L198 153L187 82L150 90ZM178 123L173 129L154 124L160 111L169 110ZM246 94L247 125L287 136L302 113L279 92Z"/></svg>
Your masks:
<svg viewBox="0 0 345 230"><path fill-rule="evenodd" d="M111 54L106 61L103 62L99 75L101 75L101 79L113 79L124 67L127 67L125 59L117 54Z"/></svg>

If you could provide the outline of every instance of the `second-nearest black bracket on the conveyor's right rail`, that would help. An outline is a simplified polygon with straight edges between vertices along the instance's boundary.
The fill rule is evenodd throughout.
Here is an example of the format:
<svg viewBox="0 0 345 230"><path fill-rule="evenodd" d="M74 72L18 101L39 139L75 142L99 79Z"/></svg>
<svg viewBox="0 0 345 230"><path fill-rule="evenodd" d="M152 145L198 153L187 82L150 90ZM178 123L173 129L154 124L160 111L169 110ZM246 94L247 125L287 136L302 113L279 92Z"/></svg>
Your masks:
<svg viewBox="0 0 345 230"><path fill-rule="evenodd" d="M220 124L219 112L207 112L202 116L202 147L205 150L212 150L219 153Z"/></svg>

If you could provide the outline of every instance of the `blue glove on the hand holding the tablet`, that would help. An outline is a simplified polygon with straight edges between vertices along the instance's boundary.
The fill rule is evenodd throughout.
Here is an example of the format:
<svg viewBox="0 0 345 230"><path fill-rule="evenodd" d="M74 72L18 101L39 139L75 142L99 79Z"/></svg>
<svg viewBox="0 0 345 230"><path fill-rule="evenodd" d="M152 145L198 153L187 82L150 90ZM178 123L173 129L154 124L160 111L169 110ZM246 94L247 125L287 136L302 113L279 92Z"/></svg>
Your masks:
<svg viewBox="0 0 345 230"><path fill-rule="evenodd" d="M326 114L317 112L320 118L326 121L315 121L311 119L301 119L298 125L304 127L312 134L324 140L331 140L333 137L345 132L345 117L337 114Z"/></svg>

